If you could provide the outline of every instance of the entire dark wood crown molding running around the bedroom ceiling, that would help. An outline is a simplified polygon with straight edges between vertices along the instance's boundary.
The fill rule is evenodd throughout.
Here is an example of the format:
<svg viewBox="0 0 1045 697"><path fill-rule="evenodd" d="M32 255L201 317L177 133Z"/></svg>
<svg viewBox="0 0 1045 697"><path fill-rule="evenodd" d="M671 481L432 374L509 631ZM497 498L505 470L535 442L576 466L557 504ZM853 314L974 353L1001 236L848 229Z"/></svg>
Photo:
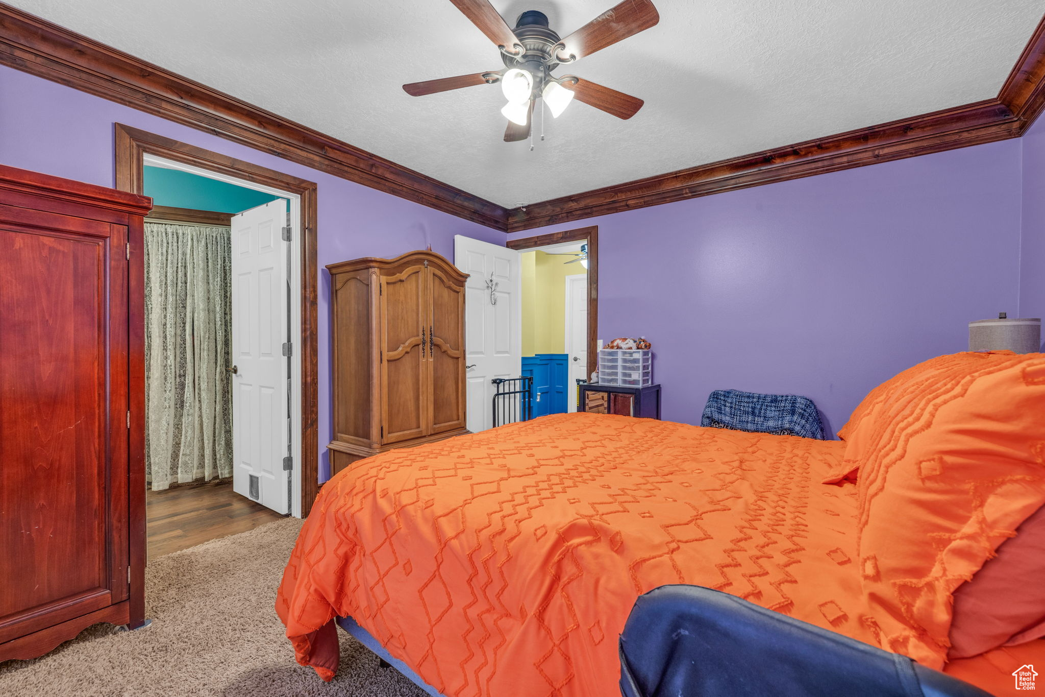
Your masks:
<svg viewBox="0 0 1045 697"><path fill-rule="evenodd" d="M994 99L506 210L2 2L0 64L505 232L1017 138L1045 111L1043 21Z"/></svg>

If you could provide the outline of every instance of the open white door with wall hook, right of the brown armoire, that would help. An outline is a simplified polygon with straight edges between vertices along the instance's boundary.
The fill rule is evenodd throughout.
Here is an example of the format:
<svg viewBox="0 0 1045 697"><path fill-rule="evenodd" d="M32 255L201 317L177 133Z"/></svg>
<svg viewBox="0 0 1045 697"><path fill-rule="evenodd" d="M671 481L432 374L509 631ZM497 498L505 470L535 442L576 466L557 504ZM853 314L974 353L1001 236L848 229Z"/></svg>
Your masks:
<svg viewBox="0 0 1045 697"><path fill-rule="evenodd" d="M493 427L495 377L522 371L522 279L519 253L454 236L454 263L468 274L464 297L468 431ZM438 396L437 396L438 398Z"/></svg>

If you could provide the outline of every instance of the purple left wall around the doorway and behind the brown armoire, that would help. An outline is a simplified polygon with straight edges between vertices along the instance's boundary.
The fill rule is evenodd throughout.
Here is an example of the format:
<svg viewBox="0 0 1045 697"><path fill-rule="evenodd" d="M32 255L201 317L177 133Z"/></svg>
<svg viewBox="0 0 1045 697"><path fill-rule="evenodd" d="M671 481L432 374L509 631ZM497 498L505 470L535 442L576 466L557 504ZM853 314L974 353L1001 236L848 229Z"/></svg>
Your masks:
<svg viewBox="0 0 1045 697"><path fill-rule="evenodd" d="M319 185L320 480L330 441L329 276L324 265L432 249L454 258L454 235L506 235L419 204L287 162L99 97L0 66L0 163L82 182L115 184L113 123L125 123Z"/></svg>

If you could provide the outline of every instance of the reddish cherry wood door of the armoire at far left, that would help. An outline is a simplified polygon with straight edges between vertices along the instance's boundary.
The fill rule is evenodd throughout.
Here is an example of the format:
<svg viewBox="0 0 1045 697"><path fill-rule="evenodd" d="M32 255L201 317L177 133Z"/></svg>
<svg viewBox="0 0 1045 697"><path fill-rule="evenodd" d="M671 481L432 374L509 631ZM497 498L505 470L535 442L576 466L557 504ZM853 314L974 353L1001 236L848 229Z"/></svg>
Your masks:
<svg viewBox="0 0 1045 697"><path fill-rule="evenodd" d="M127 597L126 241L0 211L0 642Z"/></svg>

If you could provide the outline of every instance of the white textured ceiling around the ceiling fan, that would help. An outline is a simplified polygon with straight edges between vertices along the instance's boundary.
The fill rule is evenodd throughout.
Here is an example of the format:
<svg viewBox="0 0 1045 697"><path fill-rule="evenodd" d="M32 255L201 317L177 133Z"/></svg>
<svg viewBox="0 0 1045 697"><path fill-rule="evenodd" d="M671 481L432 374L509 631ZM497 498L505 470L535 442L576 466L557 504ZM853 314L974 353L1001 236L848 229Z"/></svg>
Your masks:
<svg viewBox="0 0 1045 697"><path fill-rule="evenodd" d="M13 1L508 207L992 98L1045 13L1045 0L654 0L655 27L556 72L642 111L622 121L575 101L531 152L502 140L497 86L400 89L503 67L448 0ZM614 0L493 4L509 25L539 9L565 36Z"/></svg>

